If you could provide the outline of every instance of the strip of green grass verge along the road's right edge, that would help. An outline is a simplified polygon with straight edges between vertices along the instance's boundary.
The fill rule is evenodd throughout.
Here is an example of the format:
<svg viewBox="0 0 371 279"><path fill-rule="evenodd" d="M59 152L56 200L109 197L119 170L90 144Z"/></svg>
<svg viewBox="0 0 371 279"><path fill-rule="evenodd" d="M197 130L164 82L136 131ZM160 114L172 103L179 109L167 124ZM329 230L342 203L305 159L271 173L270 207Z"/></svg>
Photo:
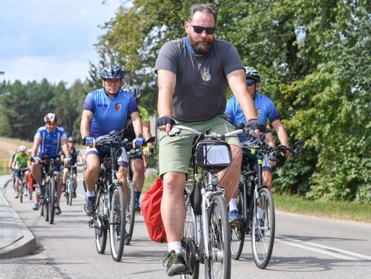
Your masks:
<svg viewBox="0 0 371 279"><path fill-rule="evenodd" d="M346 219L371 223L371 205L353 202L326 202L273 194L277 210L316 217Z"/></svg>

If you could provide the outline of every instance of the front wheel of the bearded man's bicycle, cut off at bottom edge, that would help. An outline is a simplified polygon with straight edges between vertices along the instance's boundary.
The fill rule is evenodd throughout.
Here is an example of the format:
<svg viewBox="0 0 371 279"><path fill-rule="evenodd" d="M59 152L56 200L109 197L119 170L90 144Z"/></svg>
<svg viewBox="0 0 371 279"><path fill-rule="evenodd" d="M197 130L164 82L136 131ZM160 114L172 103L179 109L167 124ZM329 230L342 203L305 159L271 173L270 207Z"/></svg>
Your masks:
<svg viewBox="0 0 371 279"><path fill-rule="evenodd" d="M205 259L208 278L231 278L231 239L225 199L212 195L209 215L209 258Z"/></svg>

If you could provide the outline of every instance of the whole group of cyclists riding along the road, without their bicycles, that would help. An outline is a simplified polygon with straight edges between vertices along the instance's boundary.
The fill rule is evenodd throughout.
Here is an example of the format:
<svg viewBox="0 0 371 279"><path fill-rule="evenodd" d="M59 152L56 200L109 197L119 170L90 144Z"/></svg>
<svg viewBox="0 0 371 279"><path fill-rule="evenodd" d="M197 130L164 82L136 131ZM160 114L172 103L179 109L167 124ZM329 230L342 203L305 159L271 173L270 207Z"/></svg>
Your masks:
<svg viewBox="0 0 371 279"><path fill-rule="evenodd" d="M271 133L267 131L265 134L267 125L272 125L280 143L289 146L289 138L276 107L269 97L258 93L260 90L258 71L251 66L243 66L232 43L215 38L216 17L216 10L209 5L193 5L188 20L184 23L187 36L164 44L155 64L159 88L157 104L159 114L157 128L160 130L159 175L164 184L161 217L168 240L166 256L168 276L174 276L187 269L181 254L181 236L186 216L183 186L186 182L193 142L193 136L187 133L182 137L168 136L172 126L179 124L201 132L212 130L218 134L225 134L243 123L254 130L256 139L248 140L243 135L239 140L233 137L225 139L231 146L234 160L229 168L219 174L223 179L218 186L225 189L225 202L229 204L231 222L238 220L236 197L241 162L247 159L252 166L256 165L254 156L240 151L240 143L254 145L258 138L263 141L267 135L269 145L274 147L276 143ZM104 155L110 154L109 148L98 147L97 141L119 136L132 141L133 147L142 147L144 140L151 136L148 112L138 106L140 91L135 87L121 89L124 71L118 66L107 66L102 70L101 77L102 88L93 90L87 95L80 123L82 144L87 146L84 173L87 191L83 210L88 216L93 215L95 210L94 189L98 181L100 161ZM234 97L228 100L227 83L234 94ZM73 137L67 139L65 130L57 126L56 115L49 113L44 121L45 126L36 132L31 153L34 158L31 171L39 189L38 193L42 193L39 162L45 156L56 158L62 149L65 165L82 162L82 158L78 159L79 151L74 147L75 139ZM23 154L25 150L22 148L20 151ZM150 149L144 148L144 154L149 156ZM292 154L286 151L282 155ZM122 182L123 189L126 189L128 169L126 150L122 149L116 156L119 165L117 179ZM17 160L19 161L18 157ZM139 197L144 184L146 158L137 156L131 164L136 186L135 206L140 211ZM265 158L264 184L269 189L272 186L271 167L275 164L274 156ZM57 214L60 214L60 193L62 185L65 185L66 175L64 172L63 182L58 182ZM75 175L75 189L76 185ZM39 195L36 195L35 210L38 209L38 199Z"/></svg>

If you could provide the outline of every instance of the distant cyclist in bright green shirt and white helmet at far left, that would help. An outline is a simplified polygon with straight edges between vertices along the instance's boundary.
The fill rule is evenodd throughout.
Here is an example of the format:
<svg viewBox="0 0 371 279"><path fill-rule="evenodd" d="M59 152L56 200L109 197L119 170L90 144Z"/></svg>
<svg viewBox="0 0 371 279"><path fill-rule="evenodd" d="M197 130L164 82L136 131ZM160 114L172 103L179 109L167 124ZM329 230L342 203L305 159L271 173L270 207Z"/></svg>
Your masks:
<svg viewBox="0 0 371 279"><path fill-rule="evenodd" d="M19 192L19 178L20 172L22 167L27 167L28 169L31 168L31 156L27 154L25 145L21 145L18 149L18 153L14 156L14 160L12 162L12 168L14 169L14 178L15 178L15 189L14 189L14 197L18 197ZM28 174L30 173L29 170L23 173L25 179L25 195L27 195L27 184L28 184Z"/></svg>

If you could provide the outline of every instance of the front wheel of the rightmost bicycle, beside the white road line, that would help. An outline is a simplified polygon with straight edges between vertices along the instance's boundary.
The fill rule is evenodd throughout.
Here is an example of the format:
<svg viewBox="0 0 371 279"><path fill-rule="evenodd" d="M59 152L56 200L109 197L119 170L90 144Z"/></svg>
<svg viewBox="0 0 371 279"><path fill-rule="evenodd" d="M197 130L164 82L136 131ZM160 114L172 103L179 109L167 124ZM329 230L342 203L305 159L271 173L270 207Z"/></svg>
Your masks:
<svg viewBox="0 0 371 279"><path fill-rule="evenodd" d="M251 246L254 261L257 267L265 269L271 259L275 233L275 213L271 192L267 188L261 188L258 192L258 200L254 201L253 223L251 232ZM257 221L256 208L264 204L263 218ZM262 207L262 206L261 206Z"/></svg>

